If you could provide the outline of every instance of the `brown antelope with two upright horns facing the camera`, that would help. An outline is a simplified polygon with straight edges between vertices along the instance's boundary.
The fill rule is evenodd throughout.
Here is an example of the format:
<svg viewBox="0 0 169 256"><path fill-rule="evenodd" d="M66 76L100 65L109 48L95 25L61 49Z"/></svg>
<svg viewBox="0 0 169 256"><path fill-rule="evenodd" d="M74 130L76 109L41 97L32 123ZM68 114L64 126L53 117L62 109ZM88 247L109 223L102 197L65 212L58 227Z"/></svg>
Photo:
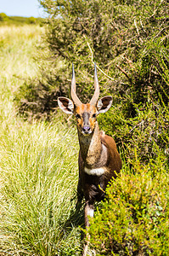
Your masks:
<svg viewBox="0 0 169 256"><path fill-rule="evenodd" d="M93 217L94 201L104 199L107 184L121 170L121 158L112 137L99 131L97 115L105 113L112 104L111 96L104 96L99 101L99 81L94 65L94 94L91 101L82 104L76 96L76 79L73 67L71 80L71 98L59 97L58 104L65 113L76 115L76 126L80 144L79 180L77 201L85 197L85 225L89 226L88 216ZM83 255L87 254L87 244Z"/></svg>

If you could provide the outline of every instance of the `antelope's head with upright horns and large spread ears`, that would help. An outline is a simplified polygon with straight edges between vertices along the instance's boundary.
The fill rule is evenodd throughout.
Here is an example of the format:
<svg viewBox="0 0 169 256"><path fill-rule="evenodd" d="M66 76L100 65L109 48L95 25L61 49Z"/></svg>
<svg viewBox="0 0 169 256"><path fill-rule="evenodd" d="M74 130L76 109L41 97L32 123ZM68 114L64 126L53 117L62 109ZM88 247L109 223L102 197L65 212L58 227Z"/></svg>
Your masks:
<svg viewBox="0 0 169 256"><path fill-rule="evenodd" d="M59 97L58 104L65 113L75 114L77 120L77 129L82 135L87 136L93 133L96 118L99 113L108 111L112 104L111 96L104 96L99 99L99 81L97 76L96 65L94 65L94 94L91 101L83 104L78 96L76 96L76 79L74 67L72 67L71 80L71 98Z"/></svg>

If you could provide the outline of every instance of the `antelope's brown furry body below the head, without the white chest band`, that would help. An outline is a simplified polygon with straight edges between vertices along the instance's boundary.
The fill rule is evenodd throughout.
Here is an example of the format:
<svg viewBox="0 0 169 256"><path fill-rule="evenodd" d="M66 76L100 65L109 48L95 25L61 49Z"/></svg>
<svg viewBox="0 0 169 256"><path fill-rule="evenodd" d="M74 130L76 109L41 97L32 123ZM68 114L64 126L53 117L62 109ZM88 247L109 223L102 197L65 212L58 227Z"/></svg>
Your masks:
<svg viewBox="0 0 169 256"><path fill-rule="evenodd" d="M104 191L112 177L121 170L121 158L117 152L115 141L112 137L99 132L99 125L95 123L93 134L83 137L78 132L80 152L79 152L79 182L77 186L78 201L85 197L86 207L93 207L94 201L104 199ZM101 176L88 175L84 168L104 168ZM89 225L87 213L85 223Z"/></svg>

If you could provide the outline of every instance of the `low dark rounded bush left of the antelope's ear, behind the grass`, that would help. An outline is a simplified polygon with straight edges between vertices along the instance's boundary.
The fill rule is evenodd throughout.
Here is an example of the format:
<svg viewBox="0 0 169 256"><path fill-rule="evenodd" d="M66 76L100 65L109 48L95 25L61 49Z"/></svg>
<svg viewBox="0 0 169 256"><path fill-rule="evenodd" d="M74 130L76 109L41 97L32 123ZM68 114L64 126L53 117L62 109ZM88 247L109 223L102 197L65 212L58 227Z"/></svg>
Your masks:
<svg viewBox="0 0 169 256"><path fill-rule="evenodd" d="M37 61L40 60L37 59ZM15 105L23 118L50 119L51 114L56 113L58 96L68 94L68 88L63 85L66 80L64 75L60 77L60 70L65 70L65 66L59 62L46 65L42 68L38 78L25 79L14 94ZM60 83L59 88L54 89L53 83L57 82Z"/></svg>

